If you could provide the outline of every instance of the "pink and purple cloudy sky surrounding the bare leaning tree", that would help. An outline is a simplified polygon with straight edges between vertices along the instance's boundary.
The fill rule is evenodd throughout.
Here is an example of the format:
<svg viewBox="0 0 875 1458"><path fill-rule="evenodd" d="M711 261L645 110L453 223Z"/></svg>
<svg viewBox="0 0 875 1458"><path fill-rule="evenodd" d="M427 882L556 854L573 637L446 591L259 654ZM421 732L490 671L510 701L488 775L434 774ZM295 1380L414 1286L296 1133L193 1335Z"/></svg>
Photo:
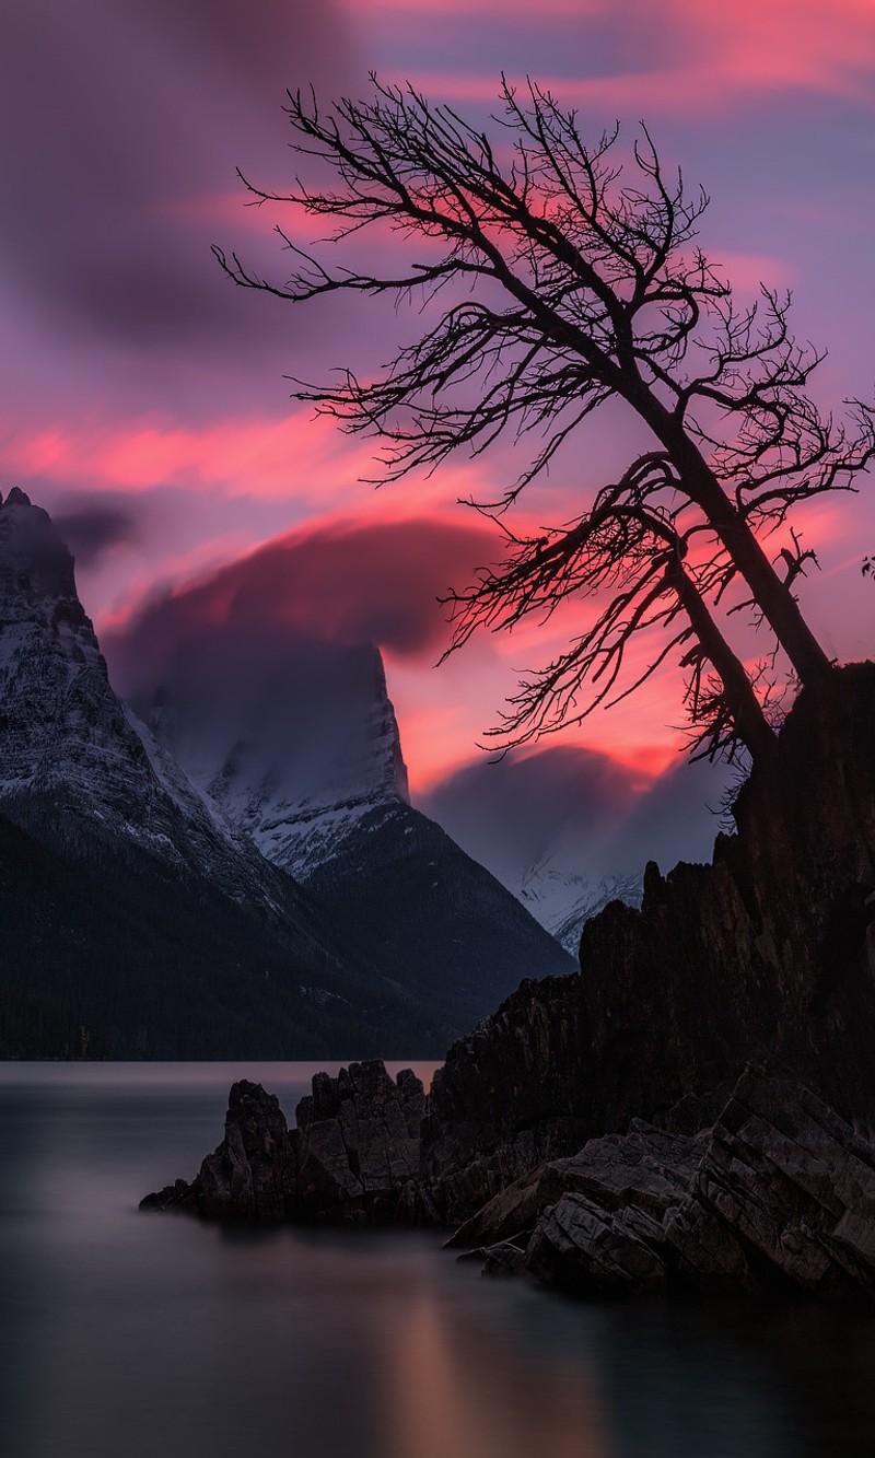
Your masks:
<svg viewBox="0 0 875 1458"><path fill-rule="evenodd" d="M505 70L548 83L594 133L643 117L664 160L710 192L701 242L738 287L793 287L796 332L830 350L822 402L871 397L871 0L29 0L7 20L0 69L0 488L19 484L79 518L80 592L99 630L273 538L292 534L319 563L327 541L359 534L372 560L368 572L346 560L344 611L382 633L414 789L477 754L516 671L573 617L477 642L435 669L433 595L464 585L483 545L455 502L499 493L508 449L459 456L429 483L362 484L368 443L293 407L283 375L373 369L398 331L416 332L416 315L343 299L290 311L235 292L216 268L213 241L281 273L273 219L244 207L233 169L283 185L286 85L356 95L376 70L480 121ZM580 475L556 472L525 503L529 519L575 515L614 449L588 443ZM423 523L438 523L430 538ZM802 526L822 567L804 607L831 652L869 653L868 493L820 503ZM429 570L392 555L401 539L416 539ZM311 611L318 582L306 590ZM573 738L658 770L680 719L666 674Z"/></svg>

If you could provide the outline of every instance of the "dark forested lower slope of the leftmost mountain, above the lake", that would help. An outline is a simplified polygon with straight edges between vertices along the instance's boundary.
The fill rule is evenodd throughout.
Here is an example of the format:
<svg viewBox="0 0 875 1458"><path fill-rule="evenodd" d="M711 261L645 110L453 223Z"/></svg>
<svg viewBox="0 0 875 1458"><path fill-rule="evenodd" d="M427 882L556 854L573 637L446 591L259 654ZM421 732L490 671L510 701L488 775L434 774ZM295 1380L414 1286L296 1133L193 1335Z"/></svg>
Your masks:
<svg viewBox="0 0 875 1458"><path fill-rule="evenodd" d="M309 1059L446 1047L353 955L133 850L71 862L0 816L0 1056Z"/></svg>

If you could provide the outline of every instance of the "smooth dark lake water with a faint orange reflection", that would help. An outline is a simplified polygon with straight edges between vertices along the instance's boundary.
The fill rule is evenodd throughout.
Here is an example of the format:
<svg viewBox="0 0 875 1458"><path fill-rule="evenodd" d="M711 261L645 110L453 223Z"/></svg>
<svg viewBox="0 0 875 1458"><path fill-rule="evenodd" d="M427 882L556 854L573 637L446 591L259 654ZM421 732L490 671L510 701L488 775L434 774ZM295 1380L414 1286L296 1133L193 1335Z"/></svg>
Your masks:
<svg viewBox="0 0 875 1458"><path fill-rule="evenodd" d="M137 1213L233 1077L290 1115L311 1072L0 1064L3 1458L875 1452L871 1317L575 1303L432 1235Z"/></svg>

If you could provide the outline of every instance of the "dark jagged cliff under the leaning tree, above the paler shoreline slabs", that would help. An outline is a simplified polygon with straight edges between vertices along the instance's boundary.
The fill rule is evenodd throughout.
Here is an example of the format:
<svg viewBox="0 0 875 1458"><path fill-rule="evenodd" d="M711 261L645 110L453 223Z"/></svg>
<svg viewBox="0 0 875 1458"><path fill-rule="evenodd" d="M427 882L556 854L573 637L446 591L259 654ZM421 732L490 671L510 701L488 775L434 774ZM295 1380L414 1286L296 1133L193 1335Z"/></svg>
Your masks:
<svg viewBox="0 0 875 1458"><path fill-rule="evenodd" d="M713 865L650 865L640 910L586 923L579 977L524 983L454 1044L423 1147L446 1223L630 1117L693 1131L763 1051L875 1128L874 742L875 665L804 691Z"/></svg>

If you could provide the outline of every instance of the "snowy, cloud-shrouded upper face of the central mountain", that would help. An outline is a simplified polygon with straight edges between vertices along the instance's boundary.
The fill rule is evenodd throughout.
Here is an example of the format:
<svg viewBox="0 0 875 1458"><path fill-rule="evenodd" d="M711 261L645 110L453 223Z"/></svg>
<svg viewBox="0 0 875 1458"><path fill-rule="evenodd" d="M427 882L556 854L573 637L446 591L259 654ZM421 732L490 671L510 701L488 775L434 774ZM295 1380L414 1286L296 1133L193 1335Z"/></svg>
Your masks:
<svg viewBox="0 0 875 1458"><path fill-rule="evenodd" d="M382 659L368 643L239 637L229 625L220 640L187 639L134 703L192 783L306 881L365 816L408 800Z"/></svg>

